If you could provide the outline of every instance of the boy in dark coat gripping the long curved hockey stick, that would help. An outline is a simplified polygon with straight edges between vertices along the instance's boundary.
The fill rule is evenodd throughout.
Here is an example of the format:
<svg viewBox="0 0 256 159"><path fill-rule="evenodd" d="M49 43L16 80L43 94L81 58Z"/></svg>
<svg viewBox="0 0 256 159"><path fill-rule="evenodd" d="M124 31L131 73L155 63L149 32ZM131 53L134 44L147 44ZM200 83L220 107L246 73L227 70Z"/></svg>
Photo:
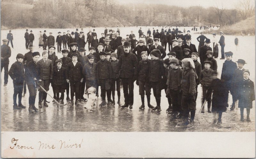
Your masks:
<svg viewBox="0 0 256 159"><path fill-rule="evenodd" d="M25 77L26 77L26 83L28 85L28 91L29 91L28 111L38 112L38 109L35 107L36 87L37 87L37 83L35 81L38 79L37 73L36 73L36 65L40 58L39 52L33 52L32 57L33 57L32 61L28 62L25 67Z"/></svg>

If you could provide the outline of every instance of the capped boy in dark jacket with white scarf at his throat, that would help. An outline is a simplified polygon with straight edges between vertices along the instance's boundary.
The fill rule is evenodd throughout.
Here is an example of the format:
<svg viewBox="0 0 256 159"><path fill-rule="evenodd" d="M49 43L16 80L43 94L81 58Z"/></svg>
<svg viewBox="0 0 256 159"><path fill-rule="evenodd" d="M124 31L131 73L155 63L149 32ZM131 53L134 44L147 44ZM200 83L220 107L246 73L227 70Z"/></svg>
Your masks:
<svg viewBox="0 0 256 159"><path fill-rule="evenodd" d="M80 84L84 81L82 71L83 66L81 62L77 61L78 54L72 54L72 62L68 63L66 68L66 78L67 82L70 83L70 95L71 95L71 106L74 105L74 96L76 95L75 105L79 106L78 98L80 98L79 87Z"/></svg>

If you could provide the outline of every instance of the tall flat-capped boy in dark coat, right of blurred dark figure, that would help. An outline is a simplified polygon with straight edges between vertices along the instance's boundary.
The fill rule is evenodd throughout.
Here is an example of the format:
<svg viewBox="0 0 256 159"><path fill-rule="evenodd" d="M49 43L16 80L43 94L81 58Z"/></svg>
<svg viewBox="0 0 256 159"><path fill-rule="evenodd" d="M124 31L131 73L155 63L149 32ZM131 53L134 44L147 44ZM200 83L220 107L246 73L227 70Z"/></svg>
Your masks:
<svg viewBox="0 0 256 159"><path fill-rule="evenodd" d="M232 56L233 56L233 53L231 51L225 53L225 57L227 60L223 63L221 77L220 77L220 79L223 80L224 83L226 84L227 89L229 91L231 90L231 92L230 92L231 95L233 94L233 92L232 92L232 77L234 76L234 72L237 69L236 62L232 61ZM226 94L226 96L228 99L228 94ZM232 99L233 99L233 102L232 102L231 107L232 106L234 107L235 96L232 95Z"/></svg>

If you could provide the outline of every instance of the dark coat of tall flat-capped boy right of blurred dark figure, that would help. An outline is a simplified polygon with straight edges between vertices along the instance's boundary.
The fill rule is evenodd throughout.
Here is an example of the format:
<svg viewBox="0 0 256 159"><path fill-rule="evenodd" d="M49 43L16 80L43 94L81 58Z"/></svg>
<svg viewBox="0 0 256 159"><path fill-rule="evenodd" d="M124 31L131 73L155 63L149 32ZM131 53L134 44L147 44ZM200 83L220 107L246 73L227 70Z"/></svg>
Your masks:
<svg viewBox="0 0 256 159"><path fill-rule="evenodd" d="M231 89L231 83L232 83L232 77L234 76L234 72L237 69L236 62L225 61L223 63L222 71L221 71L221 77L220 79L223 80L229 89Z"/></svg>

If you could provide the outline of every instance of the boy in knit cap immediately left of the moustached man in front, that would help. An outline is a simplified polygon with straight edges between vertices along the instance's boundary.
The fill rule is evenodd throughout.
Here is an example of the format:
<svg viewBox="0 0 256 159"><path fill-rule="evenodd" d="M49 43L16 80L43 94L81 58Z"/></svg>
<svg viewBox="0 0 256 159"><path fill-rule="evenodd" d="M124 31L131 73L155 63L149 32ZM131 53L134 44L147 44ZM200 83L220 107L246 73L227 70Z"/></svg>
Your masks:
<svg viewBox="0 0 256 159"><path fill-rule="evenodd" d="M116 65L117 65L118 61L119 61L117 59L117 54L116 53L111 53L110 58L111 58L111 61L110 61L111 67L112 67L112 70L114 70L116 68ZM111 86L110 86L110 90L112 91L112 98L113 98L112 104L115 105L115 91L117 91L117 98L118 98L117 104L119 106L121 106L121 103L120 103L121 79L119 78L119 73L114 73L113 76L114 76L114 80L113 80L113 83L111 83Z"/></svg>

